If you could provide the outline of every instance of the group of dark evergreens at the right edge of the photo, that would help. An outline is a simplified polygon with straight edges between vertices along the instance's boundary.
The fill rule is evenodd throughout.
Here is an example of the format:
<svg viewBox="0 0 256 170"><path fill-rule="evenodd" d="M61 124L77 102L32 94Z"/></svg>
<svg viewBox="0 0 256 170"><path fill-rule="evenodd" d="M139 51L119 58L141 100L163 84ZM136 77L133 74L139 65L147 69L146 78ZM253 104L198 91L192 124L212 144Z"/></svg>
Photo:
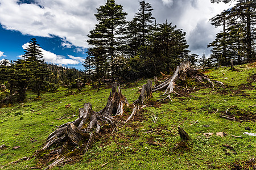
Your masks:
<svg viewBox="0 0 256 170"><path fill-rule="evenodd" d="M212 0L218 3L221 0ZM222 0L225 3L230 0ZM214 27L222 27L212 47L212 58L219 65L228 65L233 59L238 65L255 61L256 1L239 0L236 5L210 19Z"/></svg>

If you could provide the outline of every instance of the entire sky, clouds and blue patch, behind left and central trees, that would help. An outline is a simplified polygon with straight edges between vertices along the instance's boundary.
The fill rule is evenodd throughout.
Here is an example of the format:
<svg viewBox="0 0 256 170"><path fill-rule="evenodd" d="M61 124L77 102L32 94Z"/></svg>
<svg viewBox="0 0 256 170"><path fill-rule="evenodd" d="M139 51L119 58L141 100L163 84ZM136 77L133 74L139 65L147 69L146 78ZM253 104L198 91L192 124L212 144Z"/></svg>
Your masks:
<svg viewBox="0 0 256 170"><path fill-rule="evenodd" d="M49 63L82 69L89 31L94 28L96 8L106 0L0 0L0 60L15 60L35 37ZM116 0L131 20L139 0ZM210 0L146 0L154 8L157 23L166 20L187 32L191 53L209 55L207 45L219 31L209 19L229 4Z"/></svg>

